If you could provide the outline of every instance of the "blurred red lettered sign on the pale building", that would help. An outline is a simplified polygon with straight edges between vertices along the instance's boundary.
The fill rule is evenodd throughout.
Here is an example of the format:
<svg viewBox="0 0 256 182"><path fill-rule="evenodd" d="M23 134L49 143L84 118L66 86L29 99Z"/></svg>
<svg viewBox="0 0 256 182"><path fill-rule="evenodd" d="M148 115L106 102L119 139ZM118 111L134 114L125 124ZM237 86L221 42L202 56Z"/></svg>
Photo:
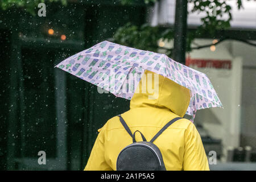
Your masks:
<svg viewBox="0 0 256 182"><path fill-rule="evenodd" d="M197 68L216 68L216 69L231 69L232 63L230 60L213 60L213 59L191 59L187 57L186 66L196 66Z"/></svg>

